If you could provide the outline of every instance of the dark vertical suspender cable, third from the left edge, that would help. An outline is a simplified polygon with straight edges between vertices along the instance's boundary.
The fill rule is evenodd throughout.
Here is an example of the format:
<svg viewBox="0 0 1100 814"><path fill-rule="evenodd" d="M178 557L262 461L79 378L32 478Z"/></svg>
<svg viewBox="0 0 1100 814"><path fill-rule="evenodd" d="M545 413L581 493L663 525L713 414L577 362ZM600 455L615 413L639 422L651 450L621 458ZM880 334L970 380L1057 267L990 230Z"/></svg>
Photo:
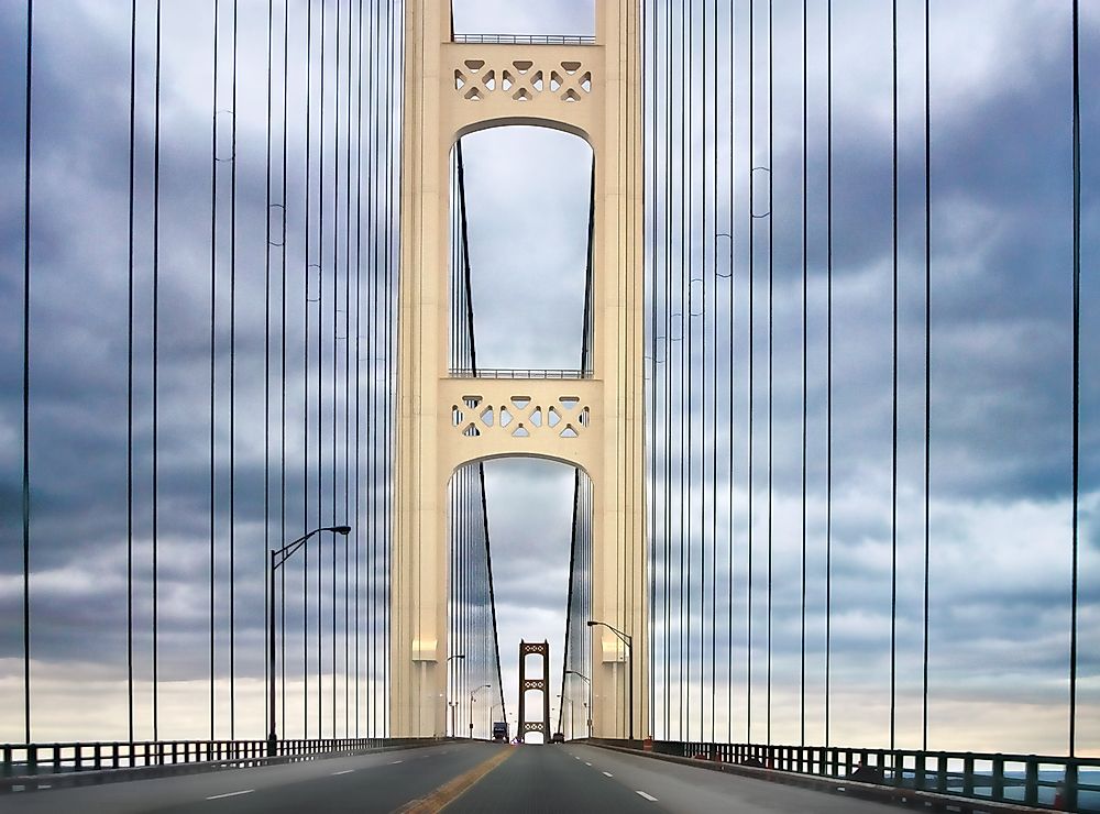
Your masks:
<svg viewBox="0 0 1100 814"><path fill-rule="evenodd" d="M160 308L161 308L161 0L156 2L156 80L155 112L153 114L153 740L160 739L160 636L157 629L157 520L160 509L158 492L158 385L160 385Z"/></svg>

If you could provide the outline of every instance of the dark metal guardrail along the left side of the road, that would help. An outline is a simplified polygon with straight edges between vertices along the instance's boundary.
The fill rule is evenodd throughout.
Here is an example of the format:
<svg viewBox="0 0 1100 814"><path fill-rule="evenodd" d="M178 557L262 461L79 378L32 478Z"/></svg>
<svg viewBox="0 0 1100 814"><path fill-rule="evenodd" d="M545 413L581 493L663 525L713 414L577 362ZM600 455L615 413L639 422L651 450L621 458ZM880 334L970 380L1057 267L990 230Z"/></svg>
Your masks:
<svg viewBox="0 0 1100 814"><path fill-rule="evenodd" d="M420 739L417 739L419 743ZM425 740L424 743L431 743ZM189 763L238 762L274 758L308 759L333 752L413 744L409 738L279 740L275 755L267 740L143 740L0 745L0 778L41 777L111 769L144 769Z"/></svg>

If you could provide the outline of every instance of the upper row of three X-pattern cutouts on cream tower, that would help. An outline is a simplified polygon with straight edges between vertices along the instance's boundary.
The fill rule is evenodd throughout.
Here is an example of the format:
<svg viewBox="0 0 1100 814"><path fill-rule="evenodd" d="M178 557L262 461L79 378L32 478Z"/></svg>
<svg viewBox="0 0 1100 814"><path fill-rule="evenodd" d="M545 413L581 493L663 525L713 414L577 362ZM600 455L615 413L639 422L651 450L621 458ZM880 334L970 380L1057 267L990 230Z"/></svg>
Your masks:
<svg viewBox="0 0 1100 814"><path fill-rule="evenodd" d="M573 103L592 92L592 72L579 59L546 63L512 59L501 65L491 65L484 59L463 59L454 69L454 92L466 101L506 94L517 102L553 96Z"/></svg>

